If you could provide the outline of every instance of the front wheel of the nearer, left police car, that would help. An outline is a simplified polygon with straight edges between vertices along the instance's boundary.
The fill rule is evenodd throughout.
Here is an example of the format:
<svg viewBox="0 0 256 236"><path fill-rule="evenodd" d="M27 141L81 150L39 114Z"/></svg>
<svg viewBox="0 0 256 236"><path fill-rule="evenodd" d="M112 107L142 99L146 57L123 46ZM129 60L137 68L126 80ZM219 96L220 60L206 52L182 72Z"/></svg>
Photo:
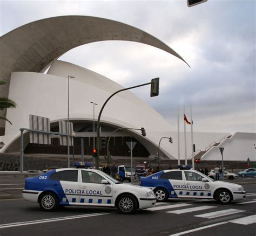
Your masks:
<svg viewBox="0 0 256 236"><path fill-rule="evenodd" d="M137 201L132 195L122 195L117 199L117 209L122 214L132 214L137 209Z"/></svg>

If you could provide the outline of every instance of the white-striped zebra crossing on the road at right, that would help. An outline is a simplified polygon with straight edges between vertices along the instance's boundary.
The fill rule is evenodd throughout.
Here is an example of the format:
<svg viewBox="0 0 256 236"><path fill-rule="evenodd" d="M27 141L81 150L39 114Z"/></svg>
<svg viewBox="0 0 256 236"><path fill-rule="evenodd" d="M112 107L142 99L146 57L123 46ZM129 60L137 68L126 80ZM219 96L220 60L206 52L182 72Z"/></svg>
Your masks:
<svg viewBox="0 0 256 236"><path fill-rule="evenodd" d="M204 203L203 206L198 206L198 202ZM205 218L205 219L214 219L218 217L224 217L224 216L230 216L232 214L239 214L239 213L245 213L246 210L239 210L239 209L234 209L236 205L241 205L241 204L254 204L256 203L256 199L253 200L248 200L247 202L242 202L242 203L235 203L230 209L221 209L219 206L211 206L211 205L205 205L205 203L212 203L213 200L195 200L193 202L185 202L185 203L156 203L156 207L152 207L150 209L145 209L146 211L160 211L164 210L164 213L169 213L169 214L187 214L187 213L193 213L193 217L200 217L200 218ZM197 204L197 206L195 206ZM172 210L173 209L173 210ZM209 210L210 212L207 213L201 213L200 211L205 211ZM214 210L214 211L212 211ZM239 217L241 215L238 215ZM255 224L256 223L256 214L252 216L246 216L246 217L241 217L238 219L232 219L232 220L226 220L224 221L226 223L234 223L234 224L241 224L241 225L250 225L250 224Z"/></svg>

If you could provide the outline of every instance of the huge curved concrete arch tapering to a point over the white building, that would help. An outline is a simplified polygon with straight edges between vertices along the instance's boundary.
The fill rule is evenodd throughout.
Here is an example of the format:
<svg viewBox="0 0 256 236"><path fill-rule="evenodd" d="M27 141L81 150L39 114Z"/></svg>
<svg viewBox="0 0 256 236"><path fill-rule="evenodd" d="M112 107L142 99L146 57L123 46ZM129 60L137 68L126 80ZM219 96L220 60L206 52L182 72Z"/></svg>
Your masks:
<svg viewBox="0 0 256 236"><path fill-rule="evenodd" d="M1 37L0 79L6 81L0 87L1 95L9 96L12 72L41 72L52 60L72 48L105 40L151 45L186 63L178 53L156 37L124 23L91 16L46 18L18 27ZM0 115L5 114L0 112ZM0 126L3 127L3 124Z"/></svg>

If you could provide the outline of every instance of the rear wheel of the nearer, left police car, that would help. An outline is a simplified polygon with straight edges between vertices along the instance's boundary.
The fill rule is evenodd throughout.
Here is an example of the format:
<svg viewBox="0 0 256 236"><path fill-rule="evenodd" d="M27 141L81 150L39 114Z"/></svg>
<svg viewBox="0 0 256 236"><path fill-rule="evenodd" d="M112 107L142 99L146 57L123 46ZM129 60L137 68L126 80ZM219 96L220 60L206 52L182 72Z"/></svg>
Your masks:
<svg viewBox="0 0 256 236"><path fill-rule="evenodd" d="M39 197L39 205L44 211L55 211L59 206L59 199L52 192L45 192Z"/></svg>

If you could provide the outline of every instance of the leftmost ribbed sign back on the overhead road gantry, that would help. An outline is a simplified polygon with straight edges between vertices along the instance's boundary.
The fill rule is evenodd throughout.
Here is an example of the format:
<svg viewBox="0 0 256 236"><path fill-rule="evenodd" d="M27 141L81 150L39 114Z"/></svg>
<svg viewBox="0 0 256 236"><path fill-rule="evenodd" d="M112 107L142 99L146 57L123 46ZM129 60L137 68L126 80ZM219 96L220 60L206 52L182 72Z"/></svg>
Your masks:
<svg viewBox="0 0 256 236"><path fill-rule="evenodd" d="M50 119L37 115L29 115L29 128L38 131L50 131ZM29 131L29 142L51 144L51 136L50 134Z"/></svg>

